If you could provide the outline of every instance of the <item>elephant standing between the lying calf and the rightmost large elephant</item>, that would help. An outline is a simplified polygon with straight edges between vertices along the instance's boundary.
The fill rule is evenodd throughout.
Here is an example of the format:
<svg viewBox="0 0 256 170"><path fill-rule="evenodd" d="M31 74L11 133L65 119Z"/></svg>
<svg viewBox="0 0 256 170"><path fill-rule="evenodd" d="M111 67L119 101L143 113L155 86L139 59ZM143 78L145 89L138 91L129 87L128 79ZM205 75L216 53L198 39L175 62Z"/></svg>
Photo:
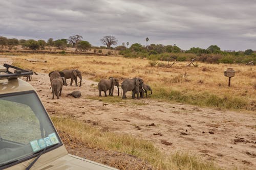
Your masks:
<svg viewBox="0 0 256 170"><path fill-rule="evenodd" d="M109 79L101 79L98 83L99 96L101 96L101 91L104 91L105 96L106 91L109 90L109 95L113 96L114 86L117 86L118 96L119 96L119 82L118 79L110 77Z"/></svg>

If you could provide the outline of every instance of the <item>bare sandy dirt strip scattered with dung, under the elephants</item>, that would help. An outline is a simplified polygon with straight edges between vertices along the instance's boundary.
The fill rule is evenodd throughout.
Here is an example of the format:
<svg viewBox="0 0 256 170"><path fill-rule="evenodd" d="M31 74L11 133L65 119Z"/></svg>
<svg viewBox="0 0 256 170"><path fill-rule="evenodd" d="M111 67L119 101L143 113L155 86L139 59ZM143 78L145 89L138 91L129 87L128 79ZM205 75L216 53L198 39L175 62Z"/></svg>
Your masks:
<svg viewBox="0 0 256 170"><path fill-rule="evenodd" d="M122 103L104 103L98 98L97 82L85 76L81 87L64 86L59 100L52 100L48 74L33 75L29 83L37 90L49 114L72 116L112 132L151 140L167 154L188 152L224 168L256 169L256 114L151 98L132 100L131 95L127 95L128 99ZM74 90L81 91L81 98L66 96ZM76 151L68 149L75 154ZM79 156L82 155L89 156L88 159L93 157L82 153Z"/></svg>

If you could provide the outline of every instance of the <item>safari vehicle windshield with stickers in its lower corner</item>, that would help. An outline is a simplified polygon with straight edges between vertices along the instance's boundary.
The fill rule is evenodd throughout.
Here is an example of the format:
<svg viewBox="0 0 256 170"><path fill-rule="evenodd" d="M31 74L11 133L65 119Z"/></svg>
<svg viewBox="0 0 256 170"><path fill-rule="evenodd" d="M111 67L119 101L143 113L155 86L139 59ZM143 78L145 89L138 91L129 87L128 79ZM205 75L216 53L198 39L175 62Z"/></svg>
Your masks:
<svg viewBox="0 0 256 170"><path fill-rule="evenodd" d="M0 166L60 143L33 91L0 95Z"/></svg>

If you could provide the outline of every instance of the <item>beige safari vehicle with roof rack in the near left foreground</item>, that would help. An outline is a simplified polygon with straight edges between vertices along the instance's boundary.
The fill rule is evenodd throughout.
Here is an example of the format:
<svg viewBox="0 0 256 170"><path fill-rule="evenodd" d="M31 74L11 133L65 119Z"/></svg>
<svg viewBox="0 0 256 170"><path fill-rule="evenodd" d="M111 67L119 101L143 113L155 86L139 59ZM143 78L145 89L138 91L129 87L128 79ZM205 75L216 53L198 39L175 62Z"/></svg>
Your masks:
<svg viewBox="0 0 256 170"><path fill-rule="evenodd" d="M32 74L0 66L0 169L115 169L68 154L36 90L18 79Z"/></svg>

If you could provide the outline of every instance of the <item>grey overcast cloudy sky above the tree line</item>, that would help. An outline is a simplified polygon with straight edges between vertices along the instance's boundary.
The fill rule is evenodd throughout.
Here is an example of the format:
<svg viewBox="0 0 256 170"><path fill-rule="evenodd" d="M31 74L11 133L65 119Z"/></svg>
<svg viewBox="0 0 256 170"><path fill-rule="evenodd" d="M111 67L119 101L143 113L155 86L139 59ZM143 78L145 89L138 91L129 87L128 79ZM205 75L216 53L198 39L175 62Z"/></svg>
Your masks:
<svg viewBox="0 0 256 170"><path fill-rule="evenodd" d="M256 50L254 0L1 0L0 36L54 40L81 35L92 45L176 44L183 50L218 45Z"/></svg>

